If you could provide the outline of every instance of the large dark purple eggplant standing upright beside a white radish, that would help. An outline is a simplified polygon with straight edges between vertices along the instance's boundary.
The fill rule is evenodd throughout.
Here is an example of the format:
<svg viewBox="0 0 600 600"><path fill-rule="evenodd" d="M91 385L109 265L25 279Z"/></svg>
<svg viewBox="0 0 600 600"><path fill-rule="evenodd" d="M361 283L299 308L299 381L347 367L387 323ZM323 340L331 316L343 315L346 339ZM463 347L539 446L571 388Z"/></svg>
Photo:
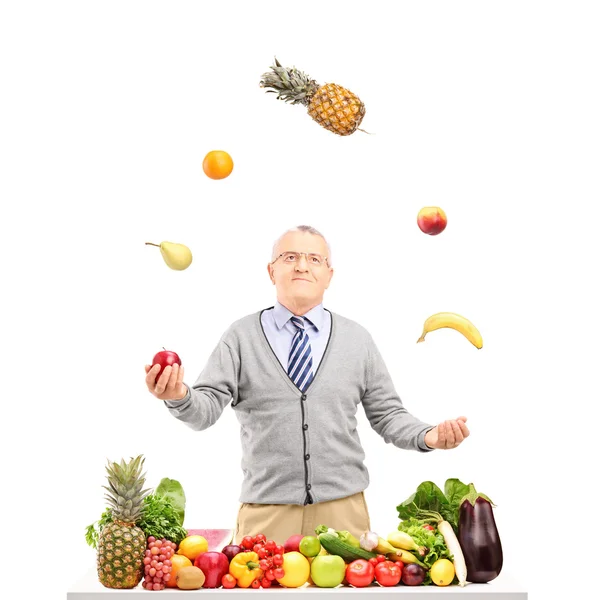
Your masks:
<svg viewBox="0 0 600 600"><path fill-rule="evenodd" d="M475 491L469 493L459 507L458 541L467 565L467 581L488 583L502 570L502 543L494 519L492 501Z"/></svg>

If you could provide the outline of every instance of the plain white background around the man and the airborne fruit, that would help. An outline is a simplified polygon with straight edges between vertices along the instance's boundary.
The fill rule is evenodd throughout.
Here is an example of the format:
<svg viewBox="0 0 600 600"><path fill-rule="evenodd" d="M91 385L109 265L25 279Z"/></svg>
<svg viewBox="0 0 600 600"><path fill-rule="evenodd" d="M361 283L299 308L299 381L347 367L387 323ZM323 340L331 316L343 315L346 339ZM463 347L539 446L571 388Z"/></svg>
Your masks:
<svg viewBox="0 0 600 600"><path fill-rule="evenodd" d="M421 481L472 481L496 503L506 576L532 599L589 597L599 25L574 1L3 3L7 597L64 598L94 567L84 529L109 459L143 454L149 485L179 480L188 527L234 526L233 411L191 431L144 365L165 346L193 383L231 322L273 304L271 246L299 224L333 247L325 306L371 332L406 407L472 432L421 455L361 410L373 528L394 529ZM275 55L357 93L371 135L265 94ZM228 179L203 174L213 149ZM428 205L448 215L436 237L416 225ZM144 245L163 240L192 249L190 268ZM483 349L452 330L417 345L438 311L473 321Z"/></svg>

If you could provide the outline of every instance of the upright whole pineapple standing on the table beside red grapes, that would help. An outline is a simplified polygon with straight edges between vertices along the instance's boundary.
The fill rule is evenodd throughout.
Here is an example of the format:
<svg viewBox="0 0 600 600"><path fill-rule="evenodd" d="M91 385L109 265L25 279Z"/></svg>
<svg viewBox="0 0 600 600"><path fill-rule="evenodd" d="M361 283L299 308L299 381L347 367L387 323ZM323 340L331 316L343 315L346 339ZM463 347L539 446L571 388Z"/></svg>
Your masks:
<svg viewBox="0 0 600 600"><path fill-rule="evenodd" d="M144 513L144 498L150 490L142 490L144 459L138 456L128 463L110 463L106 467L112 523L102 528L98 538L98 578L108 588L134 588L144 575L146 536L136 527Z"/></svg>

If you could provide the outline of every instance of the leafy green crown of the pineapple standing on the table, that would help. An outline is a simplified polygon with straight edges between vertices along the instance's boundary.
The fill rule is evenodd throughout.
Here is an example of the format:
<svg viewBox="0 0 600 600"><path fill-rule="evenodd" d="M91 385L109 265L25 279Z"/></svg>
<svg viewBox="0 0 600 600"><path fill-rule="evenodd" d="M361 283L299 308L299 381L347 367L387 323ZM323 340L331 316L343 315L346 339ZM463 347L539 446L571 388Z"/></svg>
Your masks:
<svg viewBox="0 0 600 600"><path fill-rule="evenodd" d="M106 467L108 487L102 487L108 492L104 497L115 519L135 523L143 515L143 500L151 491L142 490L146 481L146 474L142 474L144 460L140 455L128 463L123 459L120 464L109 461Z"/></svg>

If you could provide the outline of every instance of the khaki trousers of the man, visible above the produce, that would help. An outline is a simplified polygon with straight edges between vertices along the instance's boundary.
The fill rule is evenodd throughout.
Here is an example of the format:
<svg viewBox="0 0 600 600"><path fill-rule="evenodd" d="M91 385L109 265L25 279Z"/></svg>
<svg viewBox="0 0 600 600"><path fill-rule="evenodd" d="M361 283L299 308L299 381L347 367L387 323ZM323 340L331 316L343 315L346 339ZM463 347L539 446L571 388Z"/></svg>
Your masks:
<svg viewBox="0 0 600 600"><path fill-rule="evenodd" d="M315 535L318 525L347 530L357 538L371 529L369 510L363 492L316 504L240 505L235 544L245 535L263 533L268 540L284 544L292 535Z"/></svg>

